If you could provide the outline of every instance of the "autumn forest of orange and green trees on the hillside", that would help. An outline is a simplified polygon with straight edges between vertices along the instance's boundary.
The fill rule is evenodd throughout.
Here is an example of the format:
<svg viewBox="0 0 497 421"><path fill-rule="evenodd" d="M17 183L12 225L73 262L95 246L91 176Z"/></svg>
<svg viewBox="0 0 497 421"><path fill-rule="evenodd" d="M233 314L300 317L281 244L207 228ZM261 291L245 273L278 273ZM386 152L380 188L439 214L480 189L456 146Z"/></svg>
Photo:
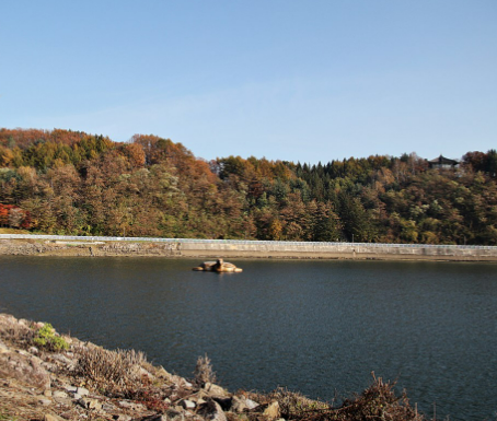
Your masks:
<svg viewBox="0 0 497 421"><path fill-rule="evenodd" d="M449 151L450 153L450 151ZM434 156L430 156L430 159ZM0 129L0 226L45 234L497 245L497 152L196 157L153 135Z"/></svg>

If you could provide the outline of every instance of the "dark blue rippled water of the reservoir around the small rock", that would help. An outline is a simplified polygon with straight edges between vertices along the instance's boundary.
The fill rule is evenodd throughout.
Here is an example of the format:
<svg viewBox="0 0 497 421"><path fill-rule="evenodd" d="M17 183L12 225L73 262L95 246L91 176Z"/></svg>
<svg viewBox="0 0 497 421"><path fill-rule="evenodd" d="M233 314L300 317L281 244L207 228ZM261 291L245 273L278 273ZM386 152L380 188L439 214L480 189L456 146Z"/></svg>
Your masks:
<svg viewBox="0 0 497 421"><path fill-rule="evenodd" d="M0 256L0 312L134 348L189 377L208 354L230 390L331 401L371 372L418 409L495 420L497 266L482 262Z"/></svg>

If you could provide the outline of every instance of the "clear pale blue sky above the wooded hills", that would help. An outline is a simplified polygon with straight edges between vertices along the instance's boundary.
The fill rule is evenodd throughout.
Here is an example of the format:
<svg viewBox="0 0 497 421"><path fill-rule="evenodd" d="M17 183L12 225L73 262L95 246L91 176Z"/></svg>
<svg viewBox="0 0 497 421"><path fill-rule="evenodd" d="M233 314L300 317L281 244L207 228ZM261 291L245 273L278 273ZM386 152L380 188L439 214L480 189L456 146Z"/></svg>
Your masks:
<svg viewBox="0 0 497 421"><path fill-rule="evenodd" d="M0 127L206 160L486 152L497 1L1 1Z"/></svg>

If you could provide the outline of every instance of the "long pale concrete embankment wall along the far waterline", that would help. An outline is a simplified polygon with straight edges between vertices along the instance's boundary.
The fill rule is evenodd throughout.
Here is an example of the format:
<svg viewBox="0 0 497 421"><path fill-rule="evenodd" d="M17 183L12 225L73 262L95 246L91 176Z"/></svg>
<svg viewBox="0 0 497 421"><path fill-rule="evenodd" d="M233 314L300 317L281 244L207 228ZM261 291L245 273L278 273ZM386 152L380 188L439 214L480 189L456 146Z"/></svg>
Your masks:
<svg viewBox="0 0 497 421"><path fill-rule="evenodd" d="M0 255L497 261L497 247L0 234Z"/></svg>

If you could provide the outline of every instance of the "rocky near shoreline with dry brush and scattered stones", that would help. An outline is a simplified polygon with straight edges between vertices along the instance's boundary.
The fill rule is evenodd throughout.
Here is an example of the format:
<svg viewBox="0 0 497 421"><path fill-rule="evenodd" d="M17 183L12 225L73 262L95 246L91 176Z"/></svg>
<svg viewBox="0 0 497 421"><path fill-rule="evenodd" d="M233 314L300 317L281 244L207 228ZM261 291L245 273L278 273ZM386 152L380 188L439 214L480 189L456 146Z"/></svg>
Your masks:
<svg viewBox="0 0 497 421"><path fill-rule="evenodd" d="M105 350L0 314L0 420L426 420L381 378L340 405L282 389L233 394L215 381L207 355L186 379L141 352Z"/></svg>

